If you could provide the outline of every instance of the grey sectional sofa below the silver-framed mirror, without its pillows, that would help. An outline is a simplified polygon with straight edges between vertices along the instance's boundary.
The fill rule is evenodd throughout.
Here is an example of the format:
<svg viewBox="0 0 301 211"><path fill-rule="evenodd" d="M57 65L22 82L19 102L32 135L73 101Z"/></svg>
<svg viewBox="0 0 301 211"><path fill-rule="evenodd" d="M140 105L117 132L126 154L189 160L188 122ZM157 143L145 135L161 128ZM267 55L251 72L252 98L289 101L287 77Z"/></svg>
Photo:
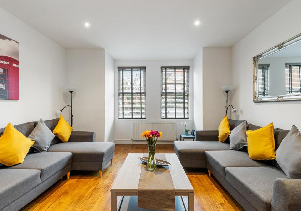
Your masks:
<svg viewBox="0 0 301 211"><path fill-rule="evenodd" d="M240 121L230 120L231 130ZM260 126L247 124L247 130ZM275 150L289 131L276 128ZM301 210L301 179L288 179L276 161L254 161L247 150L230 150L218 141L218 131L197 131L197 141L175 141L183 167L207 168L247 211Z"/></svg>

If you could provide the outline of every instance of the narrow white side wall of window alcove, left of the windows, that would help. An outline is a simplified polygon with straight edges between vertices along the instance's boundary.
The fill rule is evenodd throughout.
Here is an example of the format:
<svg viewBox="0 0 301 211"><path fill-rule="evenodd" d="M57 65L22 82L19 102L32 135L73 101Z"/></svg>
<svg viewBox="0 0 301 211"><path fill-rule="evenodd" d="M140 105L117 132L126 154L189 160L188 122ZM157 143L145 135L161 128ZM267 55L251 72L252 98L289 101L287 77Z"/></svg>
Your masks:
<svg viewBox="0 0 301 211"><path fill-rule="evenodd" d="M105 52L105 122L104 122L104 141L114 140L114 59Z"/></svg>

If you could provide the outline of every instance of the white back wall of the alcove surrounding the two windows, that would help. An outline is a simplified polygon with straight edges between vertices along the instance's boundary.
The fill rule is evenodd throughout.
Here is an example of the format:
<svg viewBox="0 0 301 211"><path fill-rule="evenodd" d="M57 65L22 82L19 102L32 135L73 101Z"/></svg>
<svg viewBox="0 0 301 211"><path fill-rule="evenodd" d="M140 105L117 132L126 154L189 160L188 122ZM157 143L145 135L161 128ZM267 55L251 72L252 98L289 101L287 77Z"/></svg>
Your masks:
<svg viewBox="0 0 301 211"><path fill-rule="evenodd" d="M131 60L115 60L115 143L130 143L133 134L133 122L141 121L167 121L177 123L177 135L180 136L184 133L184 128L181 126L181 122L188 124L187 129L191 130L193 127L193 64L192 60L145 60L145 61L131 61ZM117 84L118 84L118 66L145 66L146 70L146 99L145 110L146 120L128 120L118 119L117 110ZM190 66L190 119L185 120L161 120L160 119L160 93L161 93L161 66Z"/></svg>

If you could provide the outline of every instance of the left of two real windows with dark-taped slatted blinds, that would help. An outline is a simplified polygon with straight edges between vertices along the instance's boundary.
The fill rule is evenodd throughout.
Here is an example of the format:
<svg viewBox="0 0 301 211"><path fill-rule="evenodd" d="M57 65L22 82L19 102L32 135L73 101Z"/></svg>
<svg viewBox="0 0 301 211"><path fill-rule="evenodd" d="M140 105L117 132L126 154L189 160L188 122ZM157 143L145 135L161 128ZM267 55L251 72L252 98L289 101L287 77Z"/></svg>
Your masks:
<svg viewBox="0 0 301 211"><path fill-rule="evenodd" d="M118 119L145 119L145 67L118 67Z"/></svg>

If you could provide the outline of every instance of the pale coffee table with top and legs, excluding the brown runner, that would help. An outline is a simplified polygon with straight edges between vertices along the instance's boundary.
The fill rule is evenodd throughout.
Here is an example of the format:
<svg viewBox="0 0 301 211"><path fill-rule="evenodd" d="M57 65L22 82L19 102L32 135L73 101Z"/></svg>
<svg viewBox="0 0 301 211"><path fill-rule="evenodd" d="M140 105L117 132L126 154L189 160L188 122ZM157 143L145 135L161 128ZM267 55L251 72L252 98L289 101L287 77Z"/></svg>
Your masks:
<svg viewBox="0 0 301 211"><path fill-rule="evenodd" d="M138 184L140 179L143 153L129 153L124 161L122 168L111 188L111 211L117 210L117 196L137 196ZM177 157L174 153L165 153L166 160L171 163L169 166L172 182L175 187L175 195L182 197L184 207L188 211L194 210L194 189ZM183 196L188 196L188 206ZM121 206L120 200L119 207Z"/></svg>

